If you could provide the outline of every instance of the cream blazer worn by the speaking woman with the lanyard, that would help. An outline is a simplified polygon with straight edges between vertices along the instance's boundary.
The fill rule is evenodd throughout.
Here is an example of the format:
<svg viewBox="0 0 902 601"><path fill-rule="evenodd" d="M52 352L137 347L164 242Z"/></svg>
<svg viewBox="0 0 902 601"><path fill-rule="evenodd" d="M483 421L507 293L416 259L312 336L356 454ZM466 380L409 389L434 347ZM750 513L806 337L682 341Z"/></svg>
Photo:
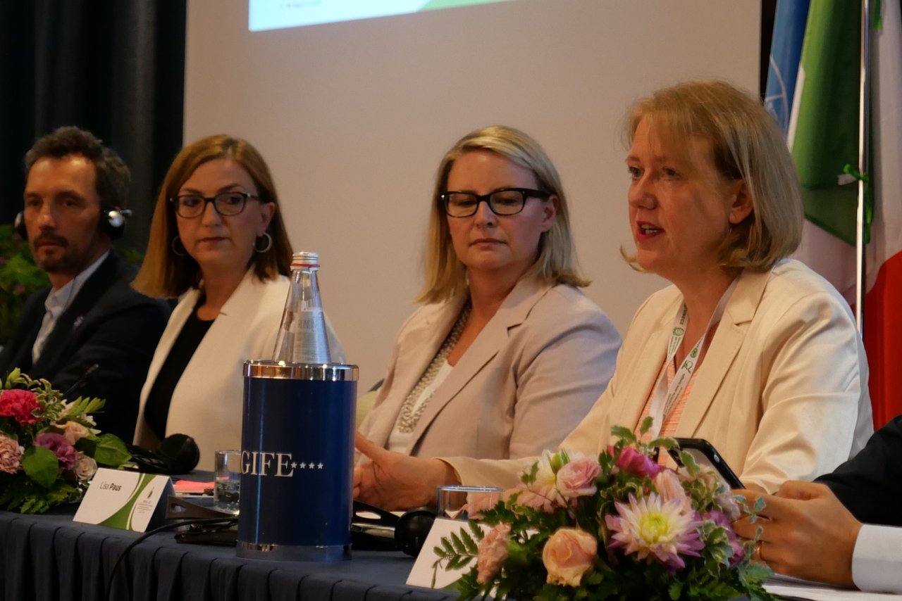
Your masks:
<svg viewBox="0 0 902 601"><path fill-rule="evenodd" d="M561 448L597 454L613 425L635 428L682 302L667 287L640 307L610 385ZM796 260L744 272L675 435L706 439L744 484L773 492L831 471L872 432L868 364L842 296ZM519 481L524 463L447 461L465 484L503 487Z"/></svg>

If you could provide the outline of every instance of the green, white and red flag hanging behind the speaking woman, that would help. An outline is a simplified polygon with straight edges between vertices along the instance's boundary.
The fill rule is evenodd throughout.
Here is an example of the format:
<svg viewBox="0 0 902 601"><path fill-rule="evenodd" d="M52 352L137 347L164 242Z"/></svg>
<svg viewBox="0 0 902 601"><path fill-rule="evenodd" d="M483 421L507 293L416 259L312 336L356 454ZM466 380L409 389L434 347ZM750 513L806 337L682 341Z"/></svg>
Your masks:
<svg viewBox="0 0 902 601"><path fill-rule="evenodd" d="M785 1L778 1L777 19ZM899 0L871 4L864 344L874 425L879 427L902 414L902 17ZM861 4L812 0L787 132L807 218L796 258L851 302L860 49Z"/></svg>

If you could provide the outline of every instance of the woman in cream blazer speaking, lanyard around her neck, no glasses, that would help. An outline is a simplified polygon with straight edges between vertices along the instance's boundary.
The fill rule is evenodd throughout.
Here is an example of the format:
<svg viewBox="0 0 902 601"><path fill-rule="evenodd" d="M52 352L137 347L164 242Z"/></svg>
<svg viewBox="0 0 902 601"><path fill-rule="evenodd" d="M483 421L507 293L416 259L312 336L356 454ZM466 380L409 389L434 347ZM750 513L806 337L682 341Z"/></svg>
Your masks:
<svg viewBox="0 0 902 601"><path fill-rule="evenodd" d="M651 415L662 435L712 442L747 486L835 468L872 431L867 362L842 296L787 259L802 201L776 123L757 99L701 81L641 100L627 135L630 260L673 286L640 306L611 383L561 448L597 454L613 425ZM372 461L356 494L390 507L457 481L511 487L522 468L358 448Z"/></svg>

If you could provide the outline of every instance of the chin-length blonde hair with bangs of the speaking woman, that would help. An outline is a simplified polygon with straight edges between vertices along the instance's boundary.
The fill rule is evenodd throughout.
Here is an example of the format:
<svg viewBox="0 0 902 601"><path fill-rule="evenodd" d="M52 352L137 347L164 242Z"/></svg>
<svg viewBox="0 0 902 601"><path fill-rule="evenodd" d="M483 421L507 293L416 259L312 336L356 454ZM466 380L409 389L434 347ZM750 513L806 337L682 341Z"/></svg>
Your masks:
<svg viewBox="0 0 902 601"><path fill-rule="evenodd" d="M673 149L692 137L708 141L721 176L745 182L752 213L724 238L718 250L724 269L767 271L796 250L805 218L796 168L783 133L757 98L725 81L690 81L632 106L624 132L630 145L642 121Z"/></svg>

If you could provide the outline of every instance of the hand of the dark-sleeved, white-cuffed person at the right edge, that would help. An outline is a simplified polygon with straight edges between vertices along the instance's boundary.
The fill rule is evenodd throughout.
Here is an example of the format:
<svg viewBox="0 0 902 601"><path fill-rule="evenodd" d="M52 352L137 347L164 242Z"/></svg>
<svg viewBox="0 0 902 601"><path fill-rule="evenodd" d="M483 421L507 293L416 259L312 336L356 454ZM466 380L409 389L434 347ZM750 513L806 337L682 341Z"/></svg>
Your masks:
<svg viewBox="0 0 902 601"><path fill-rule="evenodd" d="M830 488L813 482L783 483L776 495L735 491L753 506L759 496L765 506L751 523L733 522L740 536L752 538L761 529L755 559L780 574L853 587L851 555L861 523Z"/></svg>

